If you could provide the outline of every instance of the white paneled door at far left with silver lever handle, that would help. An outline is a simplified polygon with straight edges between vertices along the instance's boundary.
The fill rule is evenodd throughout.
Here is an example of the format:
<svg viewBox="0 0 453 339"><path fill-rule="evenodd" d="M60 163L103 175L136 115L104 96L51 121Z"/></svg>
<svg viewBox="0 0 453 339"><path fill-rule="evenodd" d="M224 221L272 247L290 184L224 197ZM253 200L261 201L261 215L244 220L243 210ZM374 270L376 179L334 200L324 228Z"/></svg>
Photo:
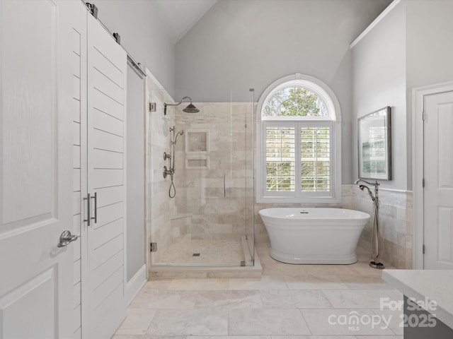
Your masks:
<svg viewBox="0 0 453 339"><path fill-rule="evenodd" d="M71 6L0 1L0 338L71 338Z"/></svg>

